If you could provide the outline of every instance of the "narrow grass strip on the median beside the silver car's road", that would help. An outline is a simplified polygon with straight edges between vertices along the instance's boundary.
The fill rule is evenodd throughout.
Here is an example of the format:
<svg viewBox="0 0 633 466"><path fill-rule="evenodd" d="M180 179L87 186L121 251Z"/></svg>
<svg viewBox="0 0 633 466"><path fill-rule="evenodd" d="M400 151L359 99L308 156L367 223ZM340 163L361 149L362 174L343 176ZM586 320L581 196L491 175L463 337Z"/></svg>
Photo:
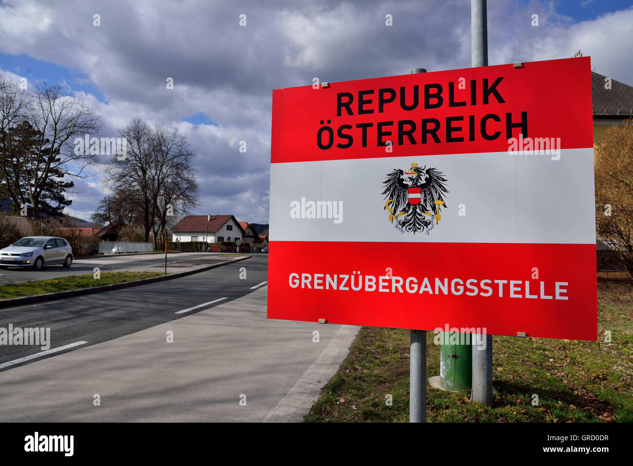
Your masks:
<svg viewBox="0 0 633 466"><path fill-rule="evenodd" d="M101 272L99 279L95 279L93 274L86 274L39 280L37 282L2 285L0 286L0 299L22 298L23 296L35 296L36 294L113 285L134 280L151 279L161 275L164 274L158 272Z"/></svg>

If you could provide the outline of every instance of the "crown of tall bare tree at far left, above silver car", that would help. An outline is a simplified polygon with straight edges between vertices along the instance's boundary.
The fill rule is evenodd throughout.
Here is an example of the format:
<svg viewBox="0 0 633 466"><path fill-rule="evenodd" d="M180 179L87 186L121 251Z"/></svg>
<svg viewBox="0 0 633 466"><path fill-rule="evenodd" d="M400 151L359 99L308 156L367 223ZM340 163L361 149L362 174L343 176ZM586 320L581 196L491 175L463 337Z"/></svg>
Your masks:
<svg viewBox="0 0 633 466"><path fill-rule="evenodd" d="M39 218L42 201L65 201L61 192L72 187L65 177L87 176L84 170L96 154L76 151L73 143L97 132L101 120L85 98L66 94L59 85L38 84L24 93L5 79L0 101L3 185L14 203L28 199L33 217Z"/></svg>

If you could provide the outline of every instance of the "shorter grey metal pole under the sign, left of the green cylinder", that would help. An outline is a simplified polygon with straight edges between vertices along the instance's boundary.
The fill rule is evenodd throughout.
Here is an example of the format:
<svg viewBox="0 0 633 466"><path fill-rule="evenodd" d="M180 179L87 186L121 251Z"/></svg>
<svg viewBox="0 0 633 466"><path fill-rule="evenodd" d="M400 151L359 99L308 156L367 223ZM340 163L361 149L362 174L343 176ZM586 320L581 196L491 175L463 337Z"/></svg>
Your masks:
<svg viewBox="0 0 633 466"><path fill-rule="evenodd" d="M413 68L411 74L426 73ZM427 422L427 332L411 331L409 368L409 422Z"/></svg>

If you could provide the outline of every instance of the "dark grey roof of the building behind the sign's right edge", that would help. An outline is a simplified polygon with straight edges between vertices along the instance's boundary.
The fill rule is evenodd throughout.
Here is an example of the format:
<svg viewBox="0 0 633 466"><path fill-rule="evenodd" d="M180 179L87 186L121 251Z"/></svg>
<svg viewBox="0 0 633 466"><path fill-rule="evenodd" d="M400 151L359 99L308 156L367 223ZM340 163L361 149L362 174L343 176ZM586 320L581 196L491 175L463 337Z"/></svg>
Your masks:
<svg viewBox="0 0 633 466"><path fill-rule="evenodd" d="M605 89L606 76L591 72L593 115L597 118L627 118L633 116L633 87L611 79L611 89Z"/></svg>

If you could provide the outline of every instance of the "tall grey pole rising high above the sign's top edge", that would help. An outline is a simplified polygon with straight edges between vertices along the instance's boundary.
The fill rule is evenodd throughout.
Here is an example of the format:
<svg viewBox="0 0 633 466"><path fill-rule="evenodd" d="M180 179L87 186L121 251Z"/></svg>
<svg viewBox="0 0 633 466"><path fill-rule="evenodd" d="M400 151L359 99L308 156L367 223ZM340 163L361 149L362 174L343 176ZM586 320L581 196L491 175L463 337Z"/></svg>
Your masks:
<svg viewBox="0 0 633 466"><path fill-rule="evenodd" d="M472 66L488 66L488 23L486 0L470 0ZM472 345L473 401L492 406L492 335L486 335L486 349Z"/></svg>

